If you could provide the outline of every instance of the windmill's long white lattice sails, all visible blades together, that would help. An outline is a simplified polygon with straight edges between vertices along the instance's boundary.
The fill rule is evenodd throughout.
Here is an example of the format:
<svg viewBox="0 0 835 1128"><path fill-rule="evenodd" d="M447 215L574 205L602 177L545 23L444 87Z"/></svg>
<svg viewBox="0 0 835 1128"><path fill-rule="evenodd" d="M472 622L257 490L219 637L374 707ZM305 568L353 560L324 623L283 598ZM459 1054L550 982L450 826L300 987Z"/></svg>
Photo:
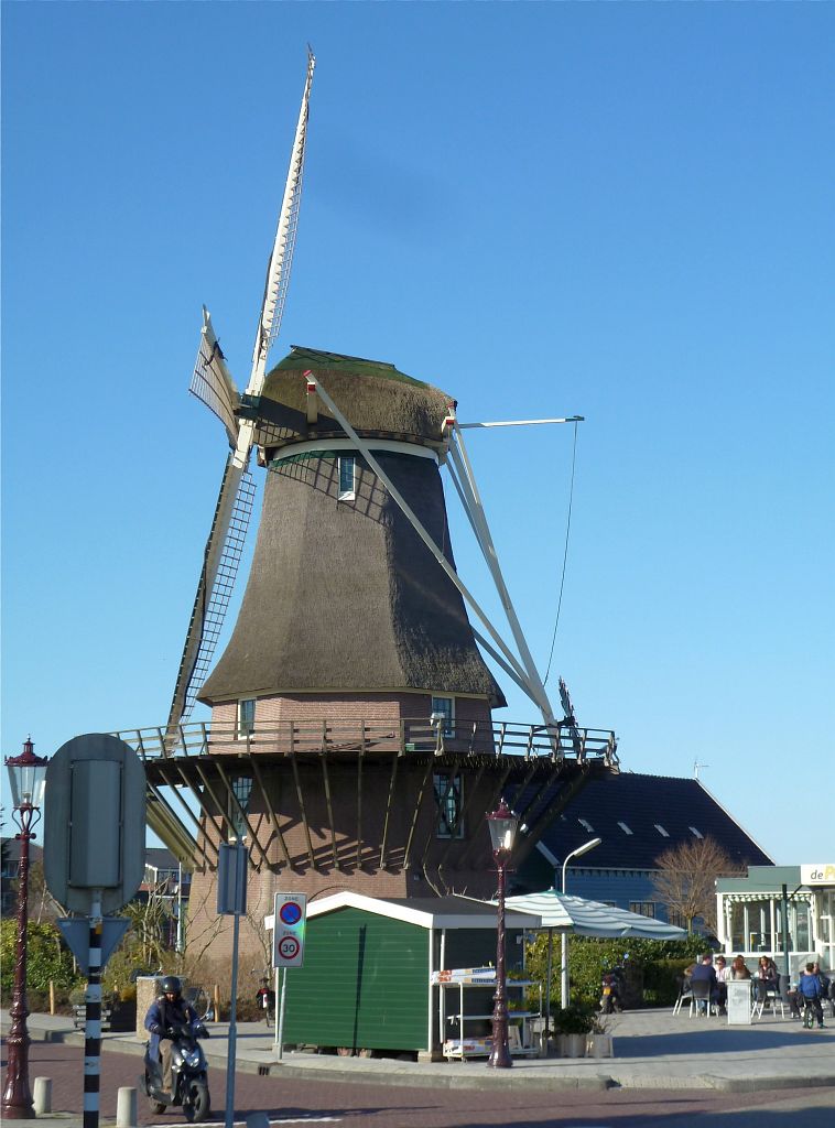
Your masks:
<svg viewBox="0 0 835 1128"><path fill-rule="evenodd" d="M264 386L266 356L281 325L290 281L290 265L301 202L308 104L315 65L316 59L308 51L305 90L301 96L278 230L267 267L266 288L255 336L253 367L246 388L246 395L250 399L257 398ZM244 552L255 494L255 486L247 469L255 435L254 413L249 413L249 417L244 415L239 418L240 397L226 367L205 308L191 390L223 423L232 451L223 472L214 519L203 553L203 567L168 714L167 749L176 744L179 739L179 724L188 716L197 689L209 672Z"/></svg>

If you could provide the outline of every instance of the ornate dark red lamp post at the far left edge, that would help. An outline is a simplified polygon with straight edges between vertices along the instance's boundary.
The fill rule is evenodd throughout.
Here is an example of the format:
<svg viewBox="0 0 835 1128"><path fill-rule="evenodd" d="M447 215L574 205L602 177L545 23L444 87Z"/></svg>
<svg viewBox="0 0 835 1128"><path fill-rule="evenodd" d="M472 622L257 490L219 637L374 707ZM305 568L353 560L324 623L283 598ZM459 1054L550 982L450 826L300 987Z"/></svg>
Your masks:
<svg viewBox="0 0 835 1128"><path fill-rule="evenodd" d="M28 1120L35 1116L29 1090L29 1031L26 1017L29 1007L26 1002L26 926L28 924L29 896L29 843L35 837L32 828L41 818L47 759L35 756L34 744L27 738L20 756L7 756L11 784L12 819L20 828L20 861L17 876L17 951L15 957L15 985L11 990L9 1016L8 1066L2 1111L5 1117Z"/></svg>

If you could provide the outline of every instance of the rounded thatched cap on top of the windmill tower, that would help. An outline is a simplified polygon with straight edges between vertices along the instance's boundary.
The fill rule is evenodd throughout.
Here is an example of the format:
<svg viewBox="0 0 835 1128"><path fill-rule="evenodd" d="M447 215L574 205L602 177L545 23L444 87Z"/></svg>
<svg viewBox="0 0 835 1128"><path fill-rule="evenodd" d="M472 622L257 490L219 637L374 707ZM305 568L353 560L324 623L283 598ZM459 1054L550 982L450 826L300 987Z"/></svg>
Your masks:
<svg viewBox="0 0 835 1128"><path fill-rule="evenodd" d="M452 397L415 380L394 364L293 345L272 369L255 409L262 447L342 438L340 424L318 405L318 418L307 421L305 372L323 382L351 426L363 438L397 439L420 446L443 444L442 424Z"/></svg>

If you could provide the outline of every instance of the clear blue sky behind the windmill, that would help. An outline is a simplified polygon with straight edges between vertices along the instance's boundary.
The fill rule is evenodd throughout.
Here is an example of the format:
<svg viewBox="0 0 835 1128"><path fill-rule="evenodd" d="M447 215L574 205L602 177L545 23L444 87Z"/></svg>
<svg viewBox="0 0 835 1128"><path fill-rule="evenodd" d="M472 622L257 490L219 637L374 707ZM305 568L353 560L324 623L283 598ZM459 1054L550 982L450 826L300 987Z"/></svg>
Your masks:
<svg viewBox="0 0 835 1128"><path fill-rule="evenodd" d="M244 384L309 41L273 359L584 415L550 688L624 769L706 764L776 861L833 860L832 6L7 3L2 33L5 755L165 722L226 451L200 307ZM469 439L543 668L571 441Z"/></svg>

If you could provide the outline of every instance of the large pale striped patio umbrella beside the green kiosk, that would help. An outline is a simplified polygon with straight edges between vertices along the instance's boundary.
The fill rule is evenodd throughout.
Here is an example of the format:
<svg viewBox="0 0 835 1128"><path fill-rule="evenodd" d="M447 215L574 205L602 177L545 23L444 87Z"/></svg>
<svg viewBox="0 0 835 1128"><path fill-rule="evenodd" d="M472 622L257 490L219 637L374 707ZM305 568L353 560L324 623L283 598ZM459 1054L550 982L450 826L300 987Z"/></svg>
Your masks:
<svg viewBox="0 0 835 1128"><path fill-rule="evenodd" d="M546 889L542 893L524 893L508 897L508 908L518 913L533 913L542 919L540 929L548 933L548 984L545 993L546 1019L551 1019L551 961L555 932L562 935L596 936L599 940L683 940L687 933L676 925L654 920L652 917L618 909L601 901L589 901L584 897L570 897ZM563 980L564 981L564 980ZM568 998L562 998L568 1005ZM550 1024L550 1022L548 1022Z"/></svg>

